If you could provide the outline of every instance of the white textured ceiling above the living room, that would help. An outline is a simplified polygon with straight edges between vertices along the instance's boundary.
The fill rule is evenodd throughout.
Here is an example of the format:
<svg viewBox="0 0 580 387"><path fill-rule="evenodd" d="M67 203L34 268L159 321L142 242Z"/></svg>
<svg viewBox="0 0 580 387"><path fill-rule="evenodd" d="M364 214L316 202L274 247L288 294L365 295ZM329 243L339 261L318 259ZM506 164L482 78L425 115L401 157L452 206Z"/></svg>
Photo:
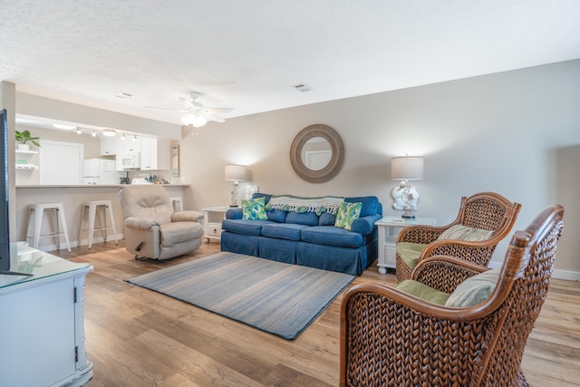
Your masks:
<svg viewBox="0 0 580 387"><path fill-rule="evenodd" d="M2 0L0 80L179 123L190 91L227 118L576 59L579 25L580 0Z"/></svg>

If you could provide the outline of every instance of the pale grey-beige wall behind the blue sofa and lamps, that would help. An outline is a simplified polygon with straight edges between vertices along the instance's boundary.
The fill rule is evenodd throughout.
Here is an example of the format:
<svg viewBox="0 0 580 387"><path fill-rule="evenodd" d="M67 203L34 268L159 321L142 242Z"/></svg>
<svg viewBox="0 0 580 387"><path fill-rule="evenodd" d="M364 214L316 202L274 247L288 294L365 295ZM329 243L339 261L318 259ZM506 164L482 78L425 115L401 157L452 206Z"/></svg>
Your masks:
<svg viewBox="0 0 580 387"><path fill-rule="evenodd" d="M490 190L522 204L521 229L560 202L566 229L556 275L580 279L579 84L575 60L210 122L180 141L181 174L192 184L184 200L188 208L227 205L224 166L244 164L252 180L240 192L252 184L277 194L376 195L395 214L391 157L423 156L425 179L414 184L419 216L449 223L461 196ZM299 179L289 160L295 135L314 123L333 127L345 147L343 169L323 184Z"/></svg>

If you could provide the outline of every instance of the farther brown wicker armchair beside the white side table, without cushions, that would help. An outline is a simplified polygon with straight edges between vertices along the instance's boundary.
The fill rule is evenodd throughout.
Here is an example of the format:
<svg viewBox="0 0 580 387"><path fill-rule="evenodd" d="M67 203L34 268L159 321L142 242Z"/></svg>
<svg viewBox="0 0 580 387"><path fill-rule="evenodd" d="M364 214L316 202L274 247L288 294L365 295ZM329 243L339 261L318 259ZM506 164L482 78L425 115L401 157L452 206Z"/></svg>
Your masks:
<svg viewBox="0 0 580 387"><path fill-rule="evenodd" d="M480 192L469 198L461 198L457 218L447 226L405 227L397 237L397 244L425 244L420 251L417 264L428 256L457 256L477 265L487 267L498 243L507 237L516 223L521 205L494 192ZM492 237L482 241L458 239L438 240L440 234L449 227L462 225L493 231ZM411 278L416 265L406 264L397 253L397 280Z"/></svg>

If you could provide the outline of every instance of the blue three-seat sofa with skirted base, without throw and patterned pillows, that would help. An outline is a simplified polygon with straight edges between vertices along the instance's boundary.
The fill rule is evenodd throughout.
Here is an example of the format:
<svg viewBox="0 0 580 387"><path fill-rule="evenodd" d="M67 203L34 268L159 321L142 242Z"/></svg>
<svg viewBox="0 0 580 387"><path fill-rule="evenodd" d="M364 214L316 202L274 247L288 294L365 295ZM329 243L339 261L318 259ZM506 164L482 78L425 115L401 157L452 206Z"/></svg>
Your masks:
<svg viewBox="0 0 580 387"><path fill-rule="evenodd" d="M252 198L272 195L256 193ZM222 222L221 249L288 264L311 266L359 276L378 256L377 227L382 204L373 196L344 198L362 203L351 231L334 227L335 215L271 208L267 220L242 219L242 208L230 208ZM267 207L266 207L267 208Z"/></svg>

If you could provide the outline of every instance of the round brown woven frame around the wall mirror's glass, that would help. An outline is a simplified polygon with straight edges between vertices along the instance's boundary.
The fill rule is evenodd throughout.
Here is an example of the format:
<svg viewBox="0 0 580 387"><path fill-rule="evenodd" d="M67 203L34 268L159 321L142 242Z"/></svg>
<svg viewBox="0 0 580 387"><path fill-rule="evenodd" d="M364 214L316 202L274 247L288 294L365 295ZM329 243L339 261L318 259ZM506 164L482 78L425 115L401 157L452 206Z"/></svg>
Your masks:
<svg viewBox="0 0 580 387"><path fill-rule="evenodd" d="M302 160L302 150L307 140L322 137L327 140L332 150L332 156L323 169L308 169ZM305 127L296 134L290 147L290 163L298 176L311 183L324 183L333 179L343 167L344 145L341 136L328 125L316 123Z"/></svg>

